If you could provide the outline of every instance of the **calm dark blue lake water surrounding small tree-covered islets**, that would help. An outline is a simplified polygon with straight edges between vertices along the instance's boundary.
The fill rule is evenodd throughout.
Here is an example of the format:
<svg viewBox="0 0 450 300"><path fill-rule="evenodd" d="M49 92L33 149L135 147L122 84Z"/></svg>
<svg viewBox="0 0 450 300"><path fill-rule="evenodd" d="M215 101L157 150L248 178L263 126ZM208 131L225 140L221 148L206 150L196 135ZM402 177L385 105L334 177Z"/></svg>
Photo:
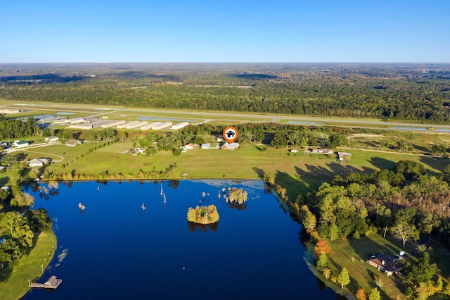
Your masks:
<svg viewBox="0 0 450 300"><path fill-rule="evenodd" d="M248 191L245 206L218 199L230 186ZM160 189L160 182L72 182L49 196L28 190L58 237L39 282L56 275L63 283L24 299L336 299L304 263L300 225L262 182L165 181L166 204ZM210 193L204 202L202 192ZM216 226L188 224L188 207L199 201L217 206Z"/></svg>

